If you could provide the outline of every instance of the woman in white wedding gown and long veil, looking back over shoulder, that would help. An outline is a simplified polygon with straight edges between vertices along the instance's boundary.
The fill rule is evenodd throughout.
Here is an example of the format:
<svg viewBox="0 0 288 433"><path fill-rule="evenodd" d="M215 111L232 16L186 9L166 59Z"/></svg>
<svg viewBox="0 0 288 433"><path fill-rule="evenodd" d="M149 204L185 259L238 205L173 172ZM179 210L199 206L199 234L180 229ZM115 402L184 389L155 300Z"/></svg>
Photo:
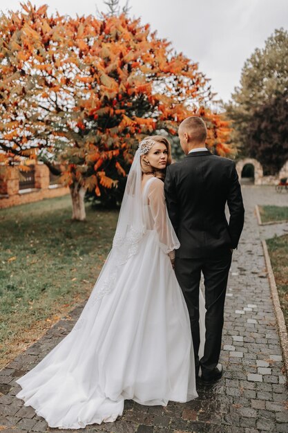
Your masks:
<svg viewBox="0 0 288 433"><path fill-rule="evenodd" d="M180 243L164 201L170 163L166 138L140 142L113 247L79 320L17 380L17 397L50 427L115 421L125 399L166 406L198 396L189 313L173 270Z"/></svg>

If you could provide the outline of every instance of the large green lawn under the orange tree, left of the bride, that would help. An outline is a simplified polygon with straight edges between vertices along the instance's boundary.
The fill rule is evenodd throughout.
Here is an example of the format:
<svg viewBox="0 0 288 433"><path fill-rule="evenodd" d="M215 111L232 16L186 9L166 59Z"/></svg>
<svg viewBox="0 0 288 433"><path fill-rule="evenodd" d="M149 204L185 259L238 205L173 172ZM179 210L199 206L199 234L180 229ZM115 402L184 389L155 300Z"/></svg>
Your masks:
<svg viewBox="0 0 288 433"><path fill-rule="evenodd" d="M86 212L72 221L70 196L0 210L0 368L92 290L118 212Z"/></svg>

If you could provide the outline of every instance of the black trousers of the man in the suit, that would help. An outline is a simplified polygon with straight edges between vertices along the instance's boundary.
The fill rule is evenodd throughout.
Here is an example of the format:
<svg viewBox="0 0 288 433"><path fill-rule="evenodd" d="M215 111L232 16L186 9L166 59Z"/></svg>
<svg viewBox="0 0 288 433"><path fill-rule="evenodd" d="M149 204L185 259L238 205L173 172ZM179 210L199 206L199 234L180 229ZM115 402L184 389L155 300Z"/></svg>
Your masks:
<svg viewBox="0 0 288 433"><path fill-rule="evenodd" d="M218 364L224 323L224 302L232 253L202 259L175 259L175 275L182 288L188 307L193 338L195 367L201 366L209 374ZM205 344L204 356L199 360L199 290L201 271L205 286Z"/></svg>

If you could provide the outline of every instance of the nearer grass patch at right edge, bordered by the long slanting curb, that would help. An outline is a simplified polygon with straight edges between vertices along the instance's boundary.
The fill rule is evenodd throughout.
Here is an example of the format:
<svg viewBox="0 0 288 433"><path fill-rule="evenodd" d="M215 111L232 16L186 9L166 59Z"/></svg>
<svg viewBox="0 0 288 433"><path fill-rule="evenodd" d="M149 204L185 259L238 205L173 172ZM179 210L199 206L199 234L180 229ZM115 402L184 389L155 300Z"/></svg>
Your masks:
<svg viewBox="0 0 288 433"><path fill-rule="evenodd" d="M288 327L288 234L268 239L267 246L286 326Z"/></svg>

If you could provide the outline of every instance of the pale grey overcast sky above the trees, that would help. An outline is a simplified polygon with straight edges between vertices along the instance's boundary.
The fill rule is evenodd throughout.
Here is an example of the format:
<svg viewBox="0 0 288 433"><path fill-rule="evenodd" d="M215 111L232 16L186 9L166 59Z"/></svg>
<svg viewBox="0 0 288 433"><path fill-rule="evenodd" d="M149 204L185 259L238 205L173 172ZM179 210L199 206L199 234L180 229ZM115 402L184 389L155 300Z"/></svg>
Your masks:
<svg viewBox="0 0 288 433"><path fill-rule="evenodd" d="M24 0L23 0L24 1ZM104 0L32 0L66 15L106 11ZM124 5L125 0L120 0ZM130 15L151 24L211 78L218 98L229 100L244 61L262 48L275 28L288 29L288 0L130 0ZM0 0L0 10L20 8L19 0Z"/></svg>

